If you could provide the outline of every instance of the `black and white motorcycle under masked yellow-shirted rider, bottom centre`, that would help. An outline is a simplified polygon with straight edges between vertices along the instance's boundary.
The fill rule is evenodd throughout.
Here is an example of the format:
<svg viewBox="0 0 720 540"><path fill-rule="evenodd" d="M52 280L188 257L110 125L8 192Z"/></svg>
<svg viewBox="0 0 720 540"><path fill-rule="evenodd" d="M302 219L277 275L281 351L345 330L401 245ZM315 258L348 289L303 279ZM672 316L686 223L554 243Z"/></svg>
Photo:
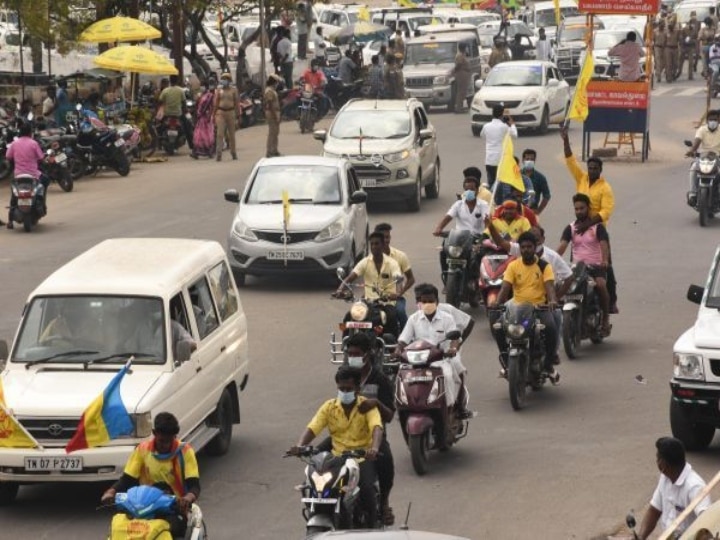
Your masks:
<svg viewBox="0 0 720 540"><path fill-rule="evenodd" d="M286 454L285 457L289 457ZM360 466L357 460L365 457L364 450L349 450L340 456L331 452L318 452L312 446L303 446L297 457L307 464L305 481L298 486L305 519L307 536L327 531L348 529L377 529L379 523L368 523L367 515L359 504ZM375 485L378 516L380 488Z"/></svg>

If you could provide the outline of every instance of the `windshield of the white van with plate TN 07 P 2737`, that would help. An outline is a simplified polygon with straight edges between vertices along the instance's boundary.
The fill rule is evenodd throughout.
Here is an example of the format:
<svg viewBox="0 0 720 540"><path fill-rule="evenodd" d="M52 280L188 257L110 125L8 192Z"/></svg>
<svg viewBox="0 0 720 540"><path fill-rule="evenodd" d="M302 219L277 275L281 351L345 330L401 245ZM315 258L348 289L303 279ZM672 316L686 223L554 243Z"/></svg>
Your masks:
<svg viewBox="0 0 720 540"><path fill-rule="evenodd" d="M13 362L165 363L160 298L47 296L34 298L23 318ZM107 359L106 359L107 357Z"/></svg>

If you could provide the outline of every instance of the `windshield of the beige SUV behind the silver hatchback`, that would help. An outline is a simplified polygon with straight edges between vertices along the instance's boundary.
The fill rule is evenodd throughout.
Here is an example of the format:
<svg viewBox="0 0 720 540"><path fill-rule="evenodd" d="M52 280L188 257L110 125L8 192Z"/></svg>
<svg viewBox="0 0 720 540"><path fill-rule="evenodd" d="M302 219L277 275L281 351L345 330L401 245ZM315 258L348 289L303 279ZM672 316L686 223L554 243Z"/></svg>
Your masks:
<svg viewBox="0 0 720 540"><path fill-rule="evenodd" d="M410 135L407 111L345 111L333 122L336 139L402 139Z"/></svg>

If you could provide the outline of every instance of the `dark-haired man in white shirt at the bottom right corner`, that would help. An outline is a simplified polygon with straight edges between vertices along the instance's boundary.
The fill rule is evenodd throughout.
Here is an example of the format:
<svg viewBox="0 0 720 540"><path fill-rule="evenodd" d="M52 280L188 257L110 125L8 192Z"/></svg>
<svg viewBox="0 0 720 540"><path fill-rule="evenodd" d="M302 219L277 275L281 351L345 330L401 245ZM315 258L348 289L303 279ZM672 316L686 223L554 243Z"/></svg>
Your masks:
<svg viewBox="0 0 720 540"><path fill-rule="evenodd" d="M657 454L655 457L660 479L645 512L640 530L639 540L645 540L655 530L660 521L662 530L666 530L683 510L705 488L705 481L685 461L683 443L673 437L660 437L655 441ZM697 517L711 504L710 497L705 497L695 507L692 514L675 529L672 538L680 538Z"/></svg>

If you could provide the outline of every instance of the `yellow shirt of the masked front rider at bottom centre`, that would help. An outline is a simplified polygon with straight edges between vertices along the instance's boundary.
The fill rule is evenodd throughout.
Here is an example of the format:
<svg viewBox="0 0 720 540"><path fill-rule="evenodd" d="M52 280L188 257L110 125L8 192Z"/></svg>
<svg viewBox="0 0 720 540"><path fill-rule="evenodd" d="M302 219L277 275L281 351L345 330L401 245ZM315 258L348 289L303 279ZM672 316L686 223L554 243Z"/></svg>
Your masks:
<svg viewBox="0 0 720 540"><path fill-rule="evenodd" d="M364 397L358 397L348 416L339 399L329 399L320 406L307 427L316 437L327 428L336 456L347 450L368 449L372 446L373 431L376 427L382 429L383 424L377 407L364 414L358 410L363 401Z"/></svg>

